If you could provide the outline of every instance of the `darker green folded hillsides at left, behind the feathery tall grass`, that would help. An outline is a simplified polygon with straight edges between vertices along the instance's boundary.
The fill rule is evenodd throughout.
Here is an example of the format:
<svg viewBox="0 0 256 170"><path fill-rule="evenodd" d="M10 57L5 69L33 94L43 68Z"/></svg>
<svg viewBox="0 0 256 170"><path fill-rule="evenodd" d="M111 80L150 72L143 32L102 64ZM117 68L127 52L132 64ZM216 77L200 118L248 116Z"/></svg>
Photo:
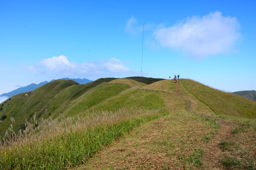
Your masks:
<svg viewBox="0 0 256 170"><path fill-rule="evenodd" d="M26 120L41 118L57 118L70 108L74 102L84 93L103 82L112 81L114 78L101 78L94 82L79 85L73 80L55 80L40 86L32 92L20 93L1 103L0 118L6 116L0 122L0 135L13 124L15 132L25 129ZM12 123L10 118L14 118Z"/></svg>

